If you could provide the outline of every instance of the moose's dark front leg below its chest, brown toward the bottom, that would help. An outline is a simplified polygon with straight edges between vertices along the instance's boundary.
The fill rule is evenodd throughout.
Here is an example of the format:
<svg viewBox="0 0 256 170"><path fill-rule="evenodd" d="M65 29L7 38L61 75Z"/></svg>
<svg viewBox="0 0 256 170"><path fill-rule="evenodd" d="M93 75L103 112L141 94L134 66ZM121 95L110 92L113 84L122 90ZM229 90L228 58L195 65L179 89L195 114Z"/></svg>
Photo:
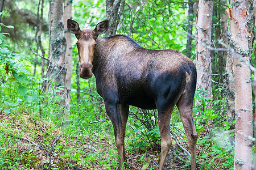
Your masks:
<svg viewBox="0 0 256 170"><path fill-rule="evenodd" d="M120 107L120 109L121 109L120 111L122 112L121 113L122 116L121 116L119 107L118 107L118 104L107 104L107 103L105 104L106 112L108 113L108 116L109 116L110 120L112 121L112 125L114 128L115 146L117 146L117 152L118 152L118 155L120 156L119 169L122 169L124 163L126 162L125 137L124 137L124 133L123 133L123 130L125 130L125 128L123 126L126 125L128 113L125 114L125 111L127 111L127 109L125 107L123 108L121 106ZM122 122L122 121L124 121L124 122Z"/></svg>

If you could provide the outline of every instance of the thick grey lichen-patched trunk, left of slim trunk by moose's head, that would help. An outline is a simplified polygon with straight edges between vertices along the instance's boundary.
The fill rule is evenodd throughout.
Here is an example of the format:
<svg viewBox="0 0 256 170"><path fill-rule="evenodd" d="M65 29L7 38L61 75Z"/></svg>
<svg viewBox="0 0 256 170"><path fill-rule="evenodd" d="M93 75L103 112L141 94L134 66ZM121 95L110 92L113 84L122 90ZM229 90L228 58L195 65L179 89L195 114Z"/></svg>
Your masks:
<svg viewBox="0 0 256 170"><path fill-rule="evenodd" d="M66 40L63 23L63 0L49 0L49 66L47 76L56 82L56 87L65 85ZM61 107L65 105L67 91L56 93L61 96Z"/></svg>

